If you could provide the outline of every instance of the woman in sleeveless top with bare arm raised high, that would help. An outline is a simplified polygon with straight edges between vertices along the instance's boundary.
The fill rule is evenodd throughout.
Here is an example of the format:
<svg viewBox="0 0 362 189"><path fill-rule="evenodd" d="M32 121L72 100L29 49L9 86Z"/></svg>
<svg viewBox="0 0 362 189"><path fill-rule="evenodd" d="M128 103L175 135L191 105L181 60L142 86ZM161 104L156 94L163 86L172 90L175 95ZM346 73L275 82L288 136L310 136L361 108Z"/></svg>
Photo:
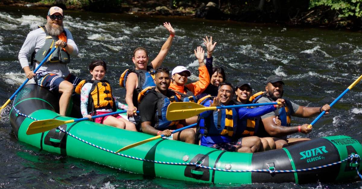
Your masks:
<svg viewBox="0 0 362 189"><path fill-rule="evenodd" d="M155 82L153 81L154 70L162 64L162 61L167 56L175 36L175 30L170 23L165 22L163 25L169 31L170 36L161 47L156 58L148 64L149 57L147 50L142 47L136 48L132 57L135 68L127 69L122 73L122 76L119 79L119 85L121 87L126 87L126 103L128 104L127 115L129 116L129 120L136 124L138 130L140 118L134 113L138 107L138 94L146 87L155 86Z"/></svg>

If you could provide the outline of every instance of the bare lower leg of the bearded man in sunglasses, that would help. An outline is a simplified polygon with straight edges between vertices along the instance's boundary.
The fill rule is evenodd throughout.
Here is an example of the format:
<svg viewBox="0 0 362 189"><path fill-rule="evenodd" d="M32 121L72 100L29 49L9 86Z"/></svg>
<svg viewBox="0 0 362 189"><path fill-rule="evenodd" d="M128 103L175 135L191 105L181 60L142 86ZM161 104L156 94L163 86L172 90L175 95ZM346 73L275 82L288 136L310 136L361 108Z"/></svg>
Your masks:
<svg viewBox="0 0 362 189"><path fill-rule="evenodd" d="M73 93L73 85L69 81L62 81L59 84L59 93L62 93L59 99L59 114L65 116L67 113L70 97Z"/></svg>

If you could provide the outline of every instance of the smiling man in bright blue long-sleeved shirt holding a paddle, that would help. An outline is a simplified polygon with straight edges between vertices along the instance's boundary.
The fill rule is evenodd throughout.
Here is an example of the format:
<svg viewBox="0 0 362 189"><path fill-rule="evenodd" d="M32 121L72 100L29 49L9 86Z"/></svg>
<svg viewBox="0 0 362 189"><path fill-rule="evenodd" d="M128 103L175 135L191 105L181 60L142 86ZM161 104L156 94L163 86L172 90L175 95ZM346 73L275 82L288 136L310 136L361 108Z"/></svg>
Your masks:
<svg viewBox="0 0 362 189"><path fill-rule="evenodd" d="M202 105L210 106L228 106L235 104L232 99L235 94L234 87L231 83L221 83L218 90L218 96L212 100L204 100ZM284 103L283 99L278 99L277 102ZM254 153L264 151L261 140L256 136L249 136L237 139L235 134L237 128L241 125L239 120L248 119L264 115L272 112L277 107L283 105L264 106L252 109L234 108L234 109L219 109L217 111L205 111L200 113L200 133L201 145L208 146L224 151Z"/></svg>

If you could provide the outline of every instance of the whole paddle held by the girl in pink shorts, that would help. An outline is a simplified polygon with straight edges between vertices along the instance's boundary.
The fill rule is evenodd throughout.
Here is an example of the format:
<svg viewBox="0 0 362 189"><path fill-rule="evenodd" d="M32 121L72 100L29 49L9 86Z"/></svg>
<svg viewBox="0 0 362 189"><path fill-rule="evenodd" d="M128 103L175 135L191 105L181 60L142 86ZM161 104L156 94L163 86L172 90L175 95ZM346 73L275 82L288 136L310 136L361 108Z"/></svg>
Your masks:
<svg viewBox="0 0 362 189"><path fill-rule="evenodd" d="M92 116L92 119L96 119L98 117L115 115L115 114L119 114L119 113L125 113L125 112L127 112L127 110L106 113L103 115ZM64 125L67 123L73 123L73 122L79 122L79 121L85 121L85 120L89 120L88 117L83 117L83 118L75 119L75 120L67 120L67 121L56 120L56 119L33 121L29 125L28 130L26 130L26 134L30 135L30 134L42 133L42 132L46 132L48 130L54 129L59 125Z"/></svg>

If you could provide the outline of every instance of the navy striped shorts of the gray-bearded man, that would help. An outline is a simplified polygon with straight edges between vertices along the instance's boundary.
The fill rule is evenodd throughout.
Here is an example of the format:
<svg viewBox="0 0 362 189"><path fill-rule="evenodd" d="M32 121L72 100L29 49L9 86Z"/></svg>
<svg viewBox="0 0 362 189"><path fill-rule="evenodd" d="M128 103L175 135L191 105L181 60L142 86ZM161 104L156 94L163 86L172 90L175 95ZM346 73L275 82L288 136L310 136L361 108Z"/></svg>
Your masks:
<svg viewBox="0 0 362 189"><path fill-rule="evenodd" d="M59 77L58 75L54 73L48 73L44 76L39 73L34 77L35 83L37 85L45 87L47 90L50 90L51 92L59 93L59 85L63 81L69 81L73 84L74 87L78 85L78 83L81 81L78 77L69 74L66 78Z"/></svg>

